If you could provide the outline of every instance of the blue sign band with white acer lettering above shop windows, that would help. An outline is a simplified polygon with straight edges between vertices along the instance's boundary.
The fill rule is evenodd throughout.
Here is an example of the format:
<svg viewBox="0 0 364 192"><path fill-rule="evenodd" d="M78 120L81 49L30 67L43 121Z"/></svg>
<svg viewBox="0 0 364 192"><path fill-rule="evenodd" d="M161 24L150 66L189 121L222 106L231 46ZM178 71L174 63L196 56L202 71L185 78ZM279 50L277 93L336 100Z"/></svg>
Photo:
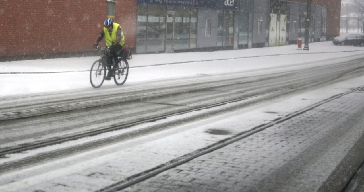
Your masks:
<svg viewBox="0 0 364 192"><path fill-rule="evenodd" d="M138 4L238 9L238 0L138 0Z"/></svg>

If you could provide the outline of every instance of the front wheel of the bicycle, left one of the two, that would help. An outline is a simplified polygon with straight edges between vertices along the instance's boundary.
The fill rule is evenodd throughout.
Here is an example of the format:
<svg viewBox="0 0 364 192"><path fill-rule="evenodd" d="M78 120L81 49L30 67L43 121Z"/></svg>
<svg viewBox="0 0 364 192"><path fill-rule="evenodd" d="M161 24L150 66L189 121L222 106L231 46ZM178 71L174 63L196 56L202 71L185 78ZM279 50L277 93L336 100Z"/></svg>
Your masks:
<svg viewBox="0 0 364 192"><path fill-rule="evenodd" d="M101 60L98 59L92 64L90 70L90 83L92 87L99 88L104 82L106 75L105 65L102 64Z"/></svg>

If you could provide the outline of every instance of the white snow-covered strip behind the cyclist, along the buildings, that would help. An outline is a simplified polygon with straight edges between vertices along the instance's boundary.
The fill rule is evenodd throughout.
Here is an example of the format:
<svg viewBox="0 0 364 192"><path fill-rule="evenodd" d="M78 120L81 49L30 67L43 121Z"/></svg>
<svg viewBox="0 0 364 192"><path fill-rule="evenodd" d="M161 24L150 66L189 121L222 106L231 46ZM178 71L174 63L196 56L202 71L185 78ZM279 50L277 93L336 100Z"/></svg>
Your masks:
<svg viewBox="0 0 364 192"><path fill-rule="evenodd" d="M123 86L155 79L294 67L317 60L325 62L332 58L360 56L364 51L363 47L334 46L332 42L310 43L309 49L297 50L297 45L289 45L215 52L133 55L133 59L129 60L129 77ZM89 70L96 59L98 57L95 56L0 62L0 96L93 89L89 81ZM214 59L217 60L198 62ZM106 81L103 86L116 85L113 81Z"/></svg>

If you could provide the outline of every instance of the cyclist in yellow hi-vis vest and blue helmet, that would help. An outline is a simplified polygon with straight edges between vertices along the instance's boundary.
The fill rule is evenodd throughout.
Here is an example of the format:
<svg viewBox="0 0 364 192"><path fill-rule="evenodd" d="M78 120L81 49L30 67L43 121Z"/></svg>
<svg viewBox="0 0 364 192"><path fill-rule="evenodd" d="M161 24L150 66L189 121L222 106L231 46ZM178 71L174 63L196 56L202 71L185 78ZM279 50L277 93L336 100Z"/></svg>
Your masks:
<svg viewBox="0 0 364 192"><path fill-rule="evenodd" d="M106 62L109 73L107 74L105 80L110 80L113 76L111 70L112 58L115 59L115 63L118 63L118 55L122 54L123 46L125 43L125 37L123 34L123 30L118 23L115 23L111 18L107 18L104 21L104 27L97 37L94 48L96 49L99 42L104 38L106 47L110 50L110 54L106 56Z"/></svg>

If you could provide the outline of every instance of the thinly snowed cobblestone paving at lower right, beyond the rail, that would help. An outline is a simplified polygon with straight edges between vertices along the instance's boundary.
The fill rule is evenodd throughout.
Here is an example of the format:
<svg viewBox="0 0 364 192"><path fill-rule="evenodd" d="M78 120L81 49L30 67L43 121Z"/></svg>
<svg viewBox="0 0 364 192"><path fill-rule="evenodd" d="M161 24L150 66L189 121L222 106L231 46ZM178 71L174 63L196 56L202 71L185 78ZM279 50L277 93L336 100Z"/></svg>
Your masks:
<svg viewBox="0 0 364 192"><path fill-rule="evenodd" d="M345 95L123 191L342 191L364 160L363 98Z"/></svg>

